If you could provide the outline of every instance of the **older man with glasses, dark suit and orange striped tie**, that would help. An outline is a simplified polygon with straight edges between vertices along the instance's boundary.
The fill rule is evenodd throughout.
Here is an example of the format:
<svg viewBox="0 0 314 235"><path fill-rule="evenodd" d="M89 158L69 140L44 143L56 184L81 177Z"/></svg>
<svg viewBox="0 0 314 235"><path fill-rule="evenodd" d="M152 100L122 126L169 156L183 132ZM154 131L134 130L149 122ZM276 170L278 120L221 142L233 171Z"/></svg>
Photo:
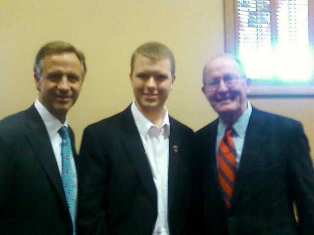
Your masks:
<svg viewBox="0 0 314 235"><path fill-rule="evenodd" d="M301 123L252 107L231 55L209 61L203 84L219 115L196 133L206 234L313 235L314 172Z"/></svg>

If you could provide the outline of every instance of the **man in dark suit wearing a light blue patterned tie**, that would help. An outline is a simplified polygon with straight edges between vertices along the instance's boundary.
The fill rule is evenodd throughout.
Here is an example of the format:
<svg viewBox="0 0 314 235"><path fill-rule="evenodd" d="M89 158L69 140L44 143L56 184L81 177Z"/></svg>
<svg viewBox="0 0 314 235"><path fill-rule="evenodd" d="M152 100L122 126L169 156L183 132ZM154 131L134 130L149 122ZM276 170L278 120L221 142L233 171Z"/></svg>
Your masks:
<svg viewBox="0 0 314 235"><path fill-rule="evenodd" d="M38 99L0 121L1 234L75 234L76 151L66 115L85 73L84 56L75 47L45 45L34 65Z"/></svg>

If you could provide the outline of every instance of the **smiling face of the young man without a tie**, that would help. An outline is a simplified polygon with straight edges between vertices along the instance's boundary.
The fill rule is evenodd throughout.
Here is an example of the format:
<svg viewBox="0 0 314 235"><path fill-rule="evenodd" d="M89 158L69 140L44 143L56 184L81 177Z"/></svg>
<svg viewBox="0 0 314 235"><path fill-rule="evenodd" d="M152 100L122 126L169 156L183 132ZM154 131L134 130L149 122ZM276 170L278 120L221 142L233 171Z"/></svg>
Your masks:
<svg viewBox="0 0 314 235"><path fill-rule="evenodd" d="M170 60L137 55L130 78L137 108L142 113L161 111L175 80Z"/></svg>

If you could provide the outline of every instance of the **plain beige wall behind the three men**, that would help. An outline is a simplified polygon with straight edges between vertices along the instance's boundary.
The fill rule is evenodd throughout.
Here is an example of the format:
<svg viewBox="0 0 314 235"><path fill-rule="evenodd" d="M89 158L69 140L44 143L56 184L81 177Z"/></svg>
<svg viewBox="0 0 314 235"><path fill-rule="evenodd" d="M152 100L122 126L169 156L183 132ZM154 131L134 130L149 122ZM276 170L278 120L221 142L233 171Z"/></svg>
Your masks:
<svg viewBox="0 0 314 235"><path fill-rule="evenodd" d="M1 0L0 119L35 100L34 57L53 40L72 43L87 59L83 90L69 112L77 146L87 124L131 103L131 53L148 41L166 44L176 56L170 114L194 130L216 118L201 93L201 76L207 59L224 50L222 0ZM314 146L313 99L252 104L302 121Z"/></svg>

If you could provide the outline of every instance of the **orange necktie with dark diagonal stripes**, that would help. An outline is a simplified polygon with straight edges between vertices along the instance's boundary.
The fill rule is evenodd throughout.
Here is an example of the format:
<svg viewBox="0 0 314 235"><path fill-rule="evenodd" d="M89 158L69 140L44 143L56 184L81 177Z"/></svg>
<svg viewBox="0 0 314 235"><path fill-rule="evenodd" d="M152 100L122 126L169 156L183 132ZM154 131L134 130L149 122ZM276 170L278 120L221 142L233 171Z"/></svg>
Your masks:
<svg viewBox="0 0 314 235"><path fill-rule="evenodd" d="M228 209L231 207L231 200L234 194L236 173L235 144L231 136L233 132L234 129L232 127L227 127L225 136L219 143L217 153L218 181Z"/></svg>

